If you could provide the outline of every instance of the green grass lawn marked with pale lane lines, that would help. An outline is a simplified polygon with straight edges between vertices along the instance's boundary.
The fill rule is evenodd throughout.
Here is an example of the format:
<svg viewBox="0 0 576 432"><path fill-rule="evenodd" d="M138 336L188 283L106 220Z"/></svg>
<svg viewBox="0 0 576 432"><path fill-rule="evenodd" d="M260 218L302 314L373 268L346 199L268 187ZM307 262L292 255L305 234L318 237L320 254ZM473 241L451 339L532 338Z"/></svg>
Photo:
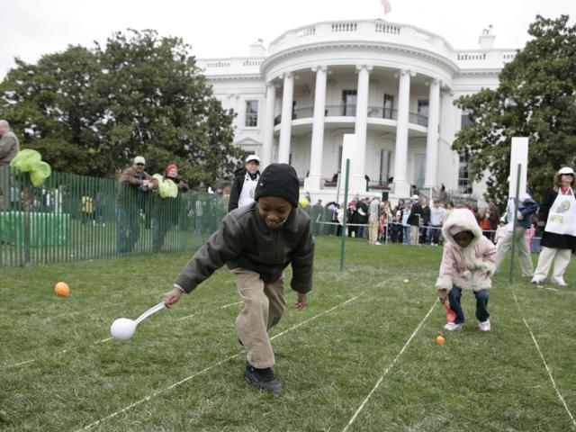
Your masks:
<svg viewBox="0 0 576 432"><path fill-rule="evenodd" d="M244 382L242 305L227 269L127 341L110 340L112 321L159 302L190 253L3 269L0 430L576 429L574 261L572 287L555 291L519 271L510 285L503 266L492 331L479 331L464 293L464 330L446 334L434 290L441 247L349 241L344 272L337 238L318 238L316 250L308 306L293 309L287 288L290 309L272 331L278 395ZM58 281L69 297L56 296Z"/></svg>

